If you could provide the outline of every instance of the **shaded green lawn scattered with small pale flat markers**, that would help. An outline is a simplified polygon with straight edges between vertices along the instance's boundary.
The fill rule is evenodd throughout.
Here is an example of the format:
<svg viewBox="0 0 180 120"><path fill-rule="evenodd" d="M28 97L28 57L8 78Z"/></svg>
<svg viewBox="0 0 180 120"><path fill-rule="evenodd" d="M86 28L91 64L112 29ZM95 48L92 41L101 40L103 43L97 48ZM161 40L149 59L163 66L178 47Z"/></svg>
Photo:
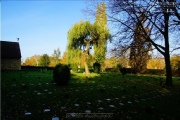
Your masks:
<svg viewBox="0 0 180 120"><path fill-rule="evenodd" d="M91 112L71 119L90 119L85 115L97 119L97 113L101 119L113 120L180 119L179 78L173 78L174 86L167 87L160 85L159 76L93 73L86 78L73 73L69 85L62 87L52 83L52 75L52 71L2 72L1 118L70 119L67 113ZM31 115L25 115L28 112Z"/></svg>

